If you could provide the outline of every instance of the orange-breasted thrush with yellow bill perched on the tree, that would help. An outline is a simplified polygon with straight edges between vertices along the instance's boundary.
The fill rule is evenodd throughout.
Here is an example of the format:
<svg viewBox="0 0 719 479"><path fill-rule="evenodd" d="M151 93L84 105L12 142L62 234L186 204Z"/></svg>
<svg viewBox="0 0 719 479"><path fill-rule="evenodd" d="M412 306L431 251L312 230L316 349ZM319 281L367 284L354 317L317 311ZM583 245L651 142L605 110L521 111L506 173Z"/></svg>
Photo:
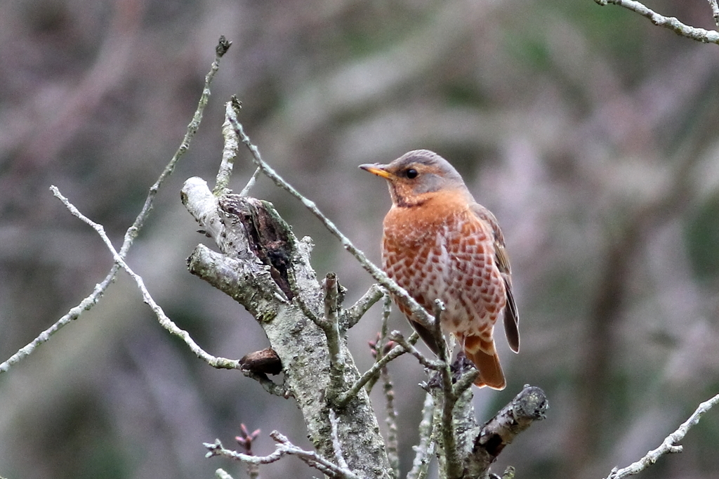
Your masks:
<svg viewBox="0 0 719 479"><path fill-rule="evenodd" d="M359 168L388 181L392 206L383 222L382 268L429 314L435 300L449 332L479 370L475 386L507 385L493 332L503 316L505 335L519 352L519 316L505 240L495 216L475 201L456 169L429 150L413 150L387 165ZM435 354L429 327L393 301Z"/></svg>

